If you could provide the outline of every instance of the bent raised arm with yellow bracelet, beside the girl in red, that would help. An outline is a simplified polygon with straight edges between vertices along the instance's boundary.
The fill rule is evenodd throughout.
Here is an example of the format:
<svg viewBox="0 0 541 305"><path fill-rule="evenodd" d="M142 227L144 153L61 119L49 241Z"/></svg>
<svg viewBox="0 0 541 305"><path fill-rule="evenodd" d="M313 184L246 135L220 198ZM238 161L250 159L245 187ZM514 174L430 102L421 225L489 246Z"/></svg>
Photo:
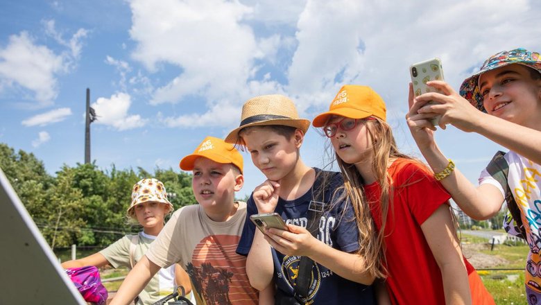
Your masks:
<svg viewBox="0 0 541 305"><path fill-rule="evenodd" d="M426 94L423 94L423 96ZM439 94L443 96L442 94ZM422 96L420 96L422 97ZM467 101L466 101L467 102ZM413 99L413 89L409 87L409 105L410 110L406 114L406 121L409 129L415 139L415 143L419 147L424 159L432 168L434 173L440 173L449 164L449 160L441 150L438 148L434 139L434 131L436 130L428 120L433 113L418 113L421 107L425 106L426 100L417 101ZM475 110L472 106L468 107ZM479 112L481 113L481 112ZM445 114L440 119L440 123L445 122ZM496 186L490 184L481 184L481 186L474 186L467 178L458 170L460 164L456 164L456 168L452 173L445 177L440 182L445 189L452 195L453 200L458 204L467 216L477 220L488 219L498 213L501 209L501 204L504 203L504 196L497 189Z"/></svg>

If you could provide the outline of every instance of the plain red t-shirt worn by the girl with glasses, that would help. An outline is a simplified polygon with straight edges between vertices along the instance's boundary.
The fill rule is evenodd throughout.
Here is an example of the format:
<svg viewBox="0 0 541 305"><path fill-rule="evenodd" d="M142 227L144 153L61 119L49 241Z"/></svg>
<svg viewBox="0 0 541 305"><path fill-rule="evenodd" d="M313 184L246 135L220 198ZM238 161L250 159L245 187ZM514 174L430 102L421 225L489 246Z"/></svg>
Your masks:
<svg viewBox="0 0 541 305"><path fill-rule="evenodd" d="M396 159L388 168L394 197L385 227L387 290L393 304L445 304L440 268L421 230L441 204L451 198L433 173L409 159ZM377 229L381 228L381 187L364 186ZM467 273L474 268L464 259Z"/></svg>

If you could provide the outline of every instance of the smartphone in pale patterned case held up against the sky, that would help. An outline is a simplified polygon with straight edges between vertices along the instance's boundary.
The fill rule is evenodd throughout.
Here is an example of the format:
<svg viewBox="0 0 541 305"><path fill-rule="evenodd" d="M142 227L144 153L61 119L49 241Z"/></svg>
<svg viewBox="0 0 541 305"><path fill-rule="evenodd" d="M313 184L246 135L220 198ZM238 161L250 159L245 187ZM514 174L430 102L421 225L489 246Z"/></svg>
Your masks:
<svg viewBox="0 0 541 305"><path fill-rule="evenodd" d="M411 76L411 83L413 84L413 94L415 94L415 96L420 96L427 92L443 93L433 87L427 86L429 80L443 80L443 68L439 58L432 58L431 60L412 64L409 67L409 73ZM434 103L436 102L429 102L429 104ZM436 116L430 121L432 125L436 126L440 121L440 116Z"/></svg>

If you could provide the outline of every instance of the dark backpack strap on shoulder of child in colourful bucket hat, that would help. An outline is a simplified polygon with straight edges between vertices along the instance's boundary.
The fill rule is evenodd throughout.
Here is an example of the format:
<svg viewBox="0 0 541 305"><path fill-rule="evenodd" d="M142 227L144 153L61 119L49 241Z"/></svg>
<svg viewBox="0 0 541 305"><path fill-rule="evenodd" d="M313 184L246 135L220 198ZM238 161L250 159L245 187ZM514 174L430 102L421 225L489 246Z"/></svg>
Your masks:
<svg viewBox="0 0 541 305"><path fill-rule="evenodd" d="M511 189L509 188L509 184L507 182L509 164L507 164L504 155L504 152L498 151L496 155L492 157L492 160L490 160L488 166L486 166L486 170L497 182L499 182L499 184L501 184L501 187L505 190L507 208L509 209L513 220L515 220L515 223L517 223L517 229L520 235L522 238L526 239L524 226L522 225L522 217L520 216L520 209L517 202L515 202L515 198L513 198L513 193L511 193Z"/></svg>

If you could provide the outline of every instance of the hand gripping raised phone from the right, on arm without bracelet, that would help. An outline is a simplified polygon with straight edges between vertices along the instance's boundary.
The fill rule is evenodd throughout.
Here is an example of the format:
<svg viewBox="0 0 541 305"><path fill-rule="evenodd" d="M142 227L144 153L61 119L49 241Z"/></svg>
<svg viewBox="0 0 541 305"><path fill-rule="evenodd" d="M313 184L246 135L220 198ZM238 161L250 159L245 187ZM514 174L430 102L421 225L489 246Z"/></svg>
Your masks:
<svg viewBox="0 0 541 305"><path fill-rule="evenodd" d="M432 80L427 85L439 89L443 94L429 92L415 98L415 103L422 103L418 108L418 114L441 115L440 128L445 129L445 124L452 124L465 132L476 130L476 123L482 120L479 116L486 115L470 105L465 98L456 93L454 89L442 80ZM437 104L427 105L428 101Z"/></svg>

